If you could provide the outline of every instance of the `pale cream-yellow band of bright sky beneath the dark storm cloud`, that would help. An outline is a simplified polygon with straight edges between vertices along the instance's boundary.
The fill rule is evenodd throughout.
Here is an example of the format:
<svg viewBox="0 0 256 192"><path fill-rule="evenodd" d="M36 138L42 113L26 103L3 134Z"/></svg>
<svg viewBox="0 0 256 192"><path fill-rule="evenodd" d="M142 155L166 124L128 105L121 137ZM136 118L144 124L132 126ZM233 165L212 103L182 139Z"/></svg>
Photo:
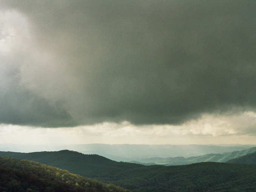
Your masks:
<svg viewBox="0 0 256 192"><path fill-rule="evenodd" d="M198 120L176 126L136 126L127 121L59 128L2 124L0 144L256 144L256 135L251 131L255 126L254 112L204 114Z"/></svg>

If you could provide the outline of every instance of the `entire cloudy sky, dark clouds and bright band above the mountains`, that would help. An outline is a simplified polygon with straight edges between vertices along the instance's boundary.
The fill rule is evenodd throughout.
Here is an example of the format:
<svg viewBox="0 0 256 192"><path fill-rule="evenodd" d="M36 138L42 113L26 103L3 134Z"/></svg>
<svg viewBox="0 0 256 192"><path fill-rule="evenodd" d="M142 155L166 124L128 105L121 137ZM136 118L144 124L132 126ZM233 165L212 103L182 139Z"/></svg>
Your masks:
<svg viewBox="0 0 256 192"><path fill-rule="evenodd" d="M0 143L256 144L255 10L0 0Z"/></svg>

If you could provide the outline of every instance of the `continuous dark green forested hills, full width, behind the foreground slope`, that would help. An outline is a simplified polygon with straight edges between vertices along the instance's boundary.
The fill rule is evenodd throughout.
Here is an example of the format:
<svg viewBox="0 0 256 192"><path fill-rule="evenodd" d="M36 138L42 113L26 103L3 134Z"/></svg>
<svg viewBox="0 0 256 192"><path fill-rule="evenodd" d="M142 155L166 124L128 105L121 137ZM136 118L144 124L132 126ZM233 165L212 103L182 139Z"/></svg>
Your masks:
<svg viewBox="0 0 256 192"><path fill-rule="evenodd" d="M137 192L256 191L256 165L196 163L182 166L143 166L74 151L0 155L37 159L60 169L113 183Z"/></svg>

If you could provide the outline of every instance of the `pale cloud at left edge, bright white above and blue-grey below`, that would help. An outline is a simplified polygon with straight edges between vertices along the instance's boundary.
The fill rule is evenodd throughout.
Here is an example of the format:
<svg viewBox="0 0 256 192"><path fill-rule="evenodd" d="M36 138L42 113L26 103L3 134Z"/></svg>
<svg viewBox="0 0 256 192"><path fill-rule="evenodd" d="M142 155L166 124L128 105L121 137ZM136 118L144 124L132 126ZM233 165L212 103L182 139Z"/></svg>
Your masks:
<svg viewBox="0 0 256 192"><path fill-rule="evenodd" d="M30 68L40 67L42 70L43 67L42 63L32 62L32 53L36 52L32 51L26 17L13 10L1 12L0 25L0 122L34 126L71 126L72 118L60 102L49 101L36 94L35 89L40 84L25 83L27 79L38 75L34 74L36 71L27 73ZM47 77L48 74L45 75L45 79L50 78Z"/></svg>

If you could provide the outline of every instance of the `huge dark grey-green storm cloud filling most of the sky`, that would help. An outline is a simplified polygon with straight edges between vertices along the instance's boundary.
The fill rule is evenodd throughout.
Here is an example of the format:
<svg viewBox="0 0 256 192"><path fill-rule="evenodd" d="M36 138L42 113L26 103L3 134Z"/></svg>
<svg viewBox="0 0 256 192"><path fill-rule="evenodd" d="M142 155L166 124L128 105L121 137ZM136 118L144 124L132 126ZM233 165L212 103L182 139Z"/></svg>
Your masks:
<svg viewBox="0 0 256 192"><path fill-rule="evenodd" d="M9 119L27 116L30 109L37 111L34 120L22 124L179 124L204 112L255 110L254 1L3 1L0 6L25 15L31 47L51 55L49 65L39 54L20 71L23 86L17 88L41 102L22 112L14 108L1 118L4 123L15 123ZM23 94L15 100L19 105ZM42 111L52 120L40 119Z"/></svg>

